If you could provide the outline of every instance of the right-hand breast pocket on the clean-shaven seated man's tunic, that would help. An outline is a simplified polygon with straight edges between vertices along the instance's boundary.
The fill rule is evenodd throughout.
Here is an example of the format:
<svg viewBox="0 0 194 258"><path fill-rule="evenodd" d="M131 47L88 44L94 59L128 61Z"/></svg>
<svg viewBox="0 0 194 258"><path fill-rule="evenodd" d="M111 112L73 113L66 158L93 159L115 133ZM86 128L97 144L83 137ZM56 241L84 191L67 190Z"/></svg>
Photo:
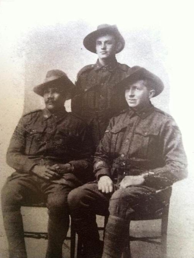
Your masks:
<svg viewBox="0 0 194 258"><path fill-rule="evenodd" d="M154 159L158 155L159 142L157 130L136 128L132 151L141 159Z"/></svg>

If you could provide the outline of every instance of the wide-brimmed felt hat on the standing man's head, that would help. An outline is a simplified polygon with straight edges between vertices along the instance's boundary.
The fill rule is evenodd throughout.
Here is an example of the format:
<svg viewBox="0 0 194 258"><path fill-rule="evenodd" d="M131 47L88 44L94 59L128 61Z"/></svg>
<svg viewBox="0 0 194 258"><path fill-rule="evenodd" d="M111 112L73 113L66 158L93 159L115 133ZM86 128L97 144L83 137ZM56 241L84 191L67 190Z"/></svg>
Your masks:
<svg viewBox="0 0 194 258"><path fill-rule="evenodd" d="M96 39L106 34L113 35L116 38L116 40L121 43L119 49L117 50L117 53L122 51L125 46L125 40L123 36L120 34L119 30L117 29L117 26L109 24L101 24L97 27L97 30L89 33L84 38L84 47L89 51L96 53Z"/></svg>

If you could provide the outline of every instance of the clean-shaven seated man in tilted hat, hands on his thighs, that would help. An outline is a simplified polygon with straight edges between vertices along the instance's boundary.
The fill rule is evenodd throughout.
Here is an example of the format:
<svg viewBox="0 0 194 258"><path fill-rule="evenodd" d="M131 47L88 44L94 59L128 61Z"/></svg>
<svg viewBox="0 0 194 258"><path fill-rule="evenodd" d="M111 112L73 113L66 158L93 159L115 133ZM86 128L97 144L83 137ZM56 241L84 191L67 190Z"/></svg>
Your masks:
<svg viewBox="0 0 194 258"><path fill-rule="evenodd" d="M110 120L97 148L97 181L78 187L68 197L90 258L101 257L95 214L110 213L102 258L119 258L130 218L159 209L171 185L187 176L181 133L173 118L150 102L163 90L160 78L134 66L120 90L129 108Z"/></svg>

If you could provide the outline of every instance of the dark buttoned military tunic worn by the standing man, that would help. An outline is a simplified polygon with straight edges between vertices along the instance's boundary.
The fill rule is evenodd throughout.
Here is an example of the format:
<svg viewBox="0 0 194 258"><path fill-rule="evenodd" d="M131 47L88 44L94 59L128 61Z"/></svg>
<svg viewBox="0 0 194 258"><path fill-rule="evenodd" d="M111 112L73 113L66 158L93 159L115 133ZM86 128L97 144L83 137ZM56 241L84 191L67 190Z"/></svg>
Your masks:
<svg viewBox="0 0 194 258"><path fill-rule="evenodd" d="M72 111L90 125L95 148L103 137L111 117L126 108L123 89L117 83L127 76L128 65L113 60L102 66L99 61L87 65L77 75L77 90L72 99Z"/></svg>

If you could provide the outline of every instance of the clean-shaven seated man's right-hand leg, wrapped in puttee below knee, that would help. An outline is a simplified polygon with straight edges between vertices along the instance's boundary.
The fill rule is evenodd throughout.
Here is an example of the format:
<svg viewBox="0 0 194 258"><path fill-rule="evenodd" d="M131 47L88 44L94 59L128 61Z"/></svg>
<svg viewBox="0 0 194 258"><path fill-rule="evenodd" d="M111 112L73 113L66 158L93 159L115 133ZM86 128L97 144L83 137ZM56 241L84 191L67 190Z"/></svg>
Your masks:
<svg viewBox="0 0 194 258"><path fill-rule="evenodd" d="M146 187L128 187L113 193L106 225L102 258L120 258L127 238L127 226L134 213L153 206L155 191ZM151 205L150 205L151 204Z"/></svg>

